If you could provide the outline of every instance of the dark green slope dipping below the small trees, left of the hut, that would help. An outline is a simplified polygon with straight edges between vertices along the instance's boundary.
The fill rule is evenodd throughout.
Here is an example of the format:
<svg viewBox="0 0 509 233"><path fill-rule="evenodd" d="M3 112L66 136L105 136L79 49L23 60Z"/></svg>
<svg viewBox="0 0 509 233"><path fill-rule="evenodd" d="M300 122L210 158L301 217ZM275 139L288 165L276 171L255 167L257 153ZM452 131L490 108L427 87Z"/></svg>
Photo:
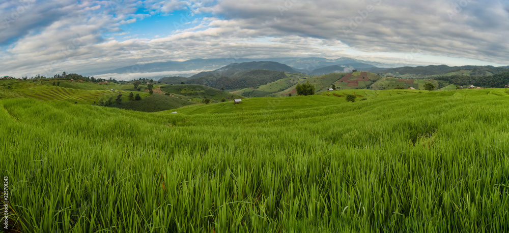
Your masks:
<svg viewBox="0 0 509 233"><path fill-rule="evenodd" d="M159 112L193 104L194 103L192 102L177 97L170 97L164 94L154 93L148 97L142 98L139 101L123 101L120 105L115 103L110 107L142 112Z"/></svg>

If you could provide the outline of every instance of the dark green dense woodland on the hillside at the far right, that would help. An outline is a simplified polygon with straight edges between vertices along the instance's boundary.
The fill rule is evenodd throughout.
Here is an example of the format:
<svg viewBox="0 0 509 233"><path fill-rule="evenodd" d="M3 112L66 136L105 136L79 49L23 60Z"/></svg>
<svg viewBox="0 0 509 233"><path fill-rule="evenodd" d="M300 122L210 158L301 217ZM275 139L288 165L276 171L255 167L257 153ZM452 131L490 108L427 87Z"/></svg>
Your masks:
<svg viewBox="0 0 509 233"><path fill-rule="evenodd" d="M474 85L480 87L504 88L505 85L509 84L509 72L477 77L465 75L440 76L435 78L435 80L447 81L459 86Z"/></svg>

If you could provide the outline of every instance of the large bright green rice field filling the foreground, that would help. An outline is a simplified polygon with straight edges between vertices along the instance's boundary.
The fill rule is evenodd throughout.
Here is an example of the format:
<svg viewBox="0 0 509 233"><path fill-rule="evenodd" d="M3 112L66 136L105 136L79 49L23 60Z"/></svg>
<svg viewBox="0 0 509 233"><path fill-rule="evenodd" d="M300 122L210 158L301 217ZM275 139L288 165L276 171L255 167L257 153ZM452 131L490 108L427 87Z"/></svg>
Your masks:
<svg viewBox="0 0 509 233"><path fill-rule="evenodd" d="M179 114L0 100L0 130L15 132L0 134L11 225L508 230L504 90L347 91L370 97L253 98Z"/></svg>

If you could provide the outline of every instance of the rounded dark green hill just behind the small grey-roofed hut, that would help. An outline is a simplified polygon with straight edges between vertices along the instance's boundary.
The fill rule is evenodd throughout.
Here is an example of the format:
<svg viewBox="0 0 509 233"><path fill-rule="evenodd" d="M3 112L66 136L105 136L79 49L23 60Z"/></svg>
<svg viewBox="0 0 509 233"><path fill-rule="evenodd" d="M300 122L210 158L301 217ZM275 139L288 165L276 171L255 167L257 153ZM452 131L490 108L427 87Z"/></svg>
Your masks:
<svg viewBox="0 0 509 233"><path fill-rule="evenodd" d="M210 98L213 102L220 102L222 98L227 99L227 101L233 101L234 98L242 98L242 96L237 94L197 84L163 85L161 86L161 91L184 96L184 98Z"/></svg>

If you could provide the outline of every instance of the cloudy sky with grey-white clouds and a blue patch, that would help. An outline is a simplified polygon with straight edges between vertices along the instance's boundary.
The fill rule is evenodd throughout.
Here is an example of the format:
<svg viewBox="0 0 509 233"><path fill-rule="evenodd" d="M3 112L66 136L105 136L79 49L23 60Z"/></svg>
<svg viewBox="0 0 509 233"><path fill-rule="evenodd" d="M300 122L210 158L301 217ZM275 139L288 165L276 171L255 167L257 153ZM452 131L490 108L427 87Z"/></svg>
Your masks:
<svg viewBox="0 0 509 233"><path fill-rule="evenodd" d="M0 75L194 58L508 65L504 0L2 0Z"/></svg>

